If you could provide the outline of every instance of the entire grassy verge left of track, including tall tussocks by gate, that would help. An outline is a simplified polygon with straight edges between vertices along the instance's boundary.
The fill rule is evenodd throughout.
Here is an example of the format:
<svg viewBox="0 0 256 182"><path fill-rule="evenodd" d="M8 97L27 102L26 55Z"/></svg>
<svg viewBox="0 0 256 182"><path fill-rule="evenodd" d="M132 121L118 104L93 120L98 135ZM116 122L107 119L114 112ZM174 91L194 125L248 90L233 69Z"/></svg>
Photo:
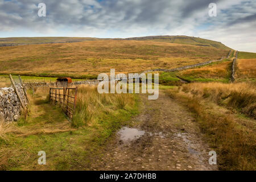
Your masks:
<svg viewBox="0 0 256 182"><path fill-rule="evenodd" d="M32 104L30 116L15 126L23 133L32 129L37 129L38 132L26 137L19 137L15 133L5 134L8 140L0 140L0 169L92 169L90 164L96 156L101 155L106 141L138 113L137 96L134 94L104 96L98 94L95 88L81 86L77 100L78 110L72 123L74 128L59 107L46 102L46 96L34 94L34 97L36 102ZM45 109L38 112L42 110L41 107ZM46 152L46 165L38 164L39 151Z"/></svg>

